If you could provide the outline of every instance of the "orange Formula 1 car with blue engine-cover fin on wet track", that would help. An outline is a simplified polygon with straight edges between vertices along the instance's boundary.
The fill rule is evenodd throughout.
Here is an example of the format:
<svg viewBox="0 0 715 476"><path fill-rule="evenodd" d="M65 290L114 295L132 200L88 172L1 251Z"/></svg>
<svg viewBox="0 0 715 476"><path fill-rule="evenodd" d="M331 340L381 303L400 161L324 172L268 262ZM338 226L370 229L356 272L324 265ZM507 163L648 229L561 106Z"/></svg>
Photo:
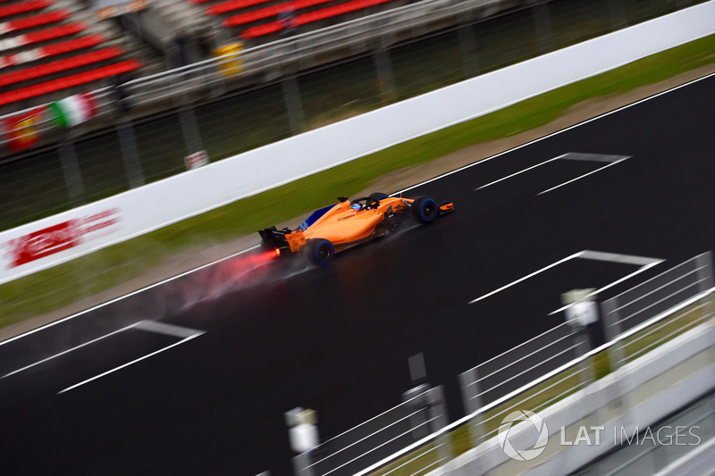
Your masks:
<svg viewBox="0 0 715 476"><path fill-rule="evenodd" d="M412 216L420 223L432 223L438 216L454 210L454 205L437 205L432 198L402 198L374 193L349 201L341 196L337 205L316 210L296 230L260 230L265 250L276 255L306 255L325 266L336 251L355 246L397 230L400 221Z"/></svg>

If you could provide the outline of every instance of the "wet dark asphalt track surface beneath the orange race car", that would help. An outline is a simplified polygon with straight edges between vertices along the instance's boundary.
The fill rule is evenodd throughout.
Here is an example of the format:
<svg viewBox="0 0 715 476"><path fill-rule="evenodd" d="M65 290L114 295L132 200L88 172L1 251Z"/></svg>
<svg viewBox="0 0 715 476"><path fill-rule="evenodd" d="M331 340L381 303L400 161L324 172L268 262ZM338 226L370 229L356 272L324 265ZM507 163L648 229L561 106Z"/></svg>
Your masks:
<svg viewBox="0 0 715 476"><path fill-rule="evenodd" d="M573 259L475 298L582 250L665 260L606 298L715 248L713 123L715 77L409 190L457 211L324 269L248 252L6 341L2 472L290 474L283 412L347 430L400 403L418 352L454 420L459 372L637 268ZM568 153L629 158L544 163Z"/></svg>

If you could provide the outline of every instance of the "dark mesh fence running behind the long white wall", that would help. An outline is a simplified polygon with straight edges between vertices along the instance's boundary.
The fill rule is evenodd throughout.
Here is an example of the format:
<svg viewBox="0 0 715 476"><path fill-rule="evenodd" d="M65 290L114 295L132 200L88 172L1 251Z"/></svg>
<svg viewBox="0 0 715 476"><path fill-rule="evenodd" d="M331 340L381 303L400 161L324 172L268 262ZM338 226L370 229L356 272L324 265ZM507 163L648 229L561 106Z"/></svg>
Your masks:
<svg viewBox="0 0 715 476"><path fill-rule="evenodd" d="M238 65L231 66L236 58L221 60L241 71L236 78L209 61L136 79L124 87L129 115L114 104L116 89L105 88L97 91L98 121L107 128L88 132L85 124L60 133L32 124L40 146L5 156L0 230L185 171L189 154L206 151L218 161L696 3L475 1L472 10L468 2L412 4L401 8L432 5L425 15L451 20L416 37L397 28L408 24L407 10L375 25L366 17L354 38L349 32L357 26L336 26L262 46L261 54L247 51ZM411 21L405 28L418 28ZM333 54L325 63L326 45L339 38L354 41L342 59Z"/></svg>

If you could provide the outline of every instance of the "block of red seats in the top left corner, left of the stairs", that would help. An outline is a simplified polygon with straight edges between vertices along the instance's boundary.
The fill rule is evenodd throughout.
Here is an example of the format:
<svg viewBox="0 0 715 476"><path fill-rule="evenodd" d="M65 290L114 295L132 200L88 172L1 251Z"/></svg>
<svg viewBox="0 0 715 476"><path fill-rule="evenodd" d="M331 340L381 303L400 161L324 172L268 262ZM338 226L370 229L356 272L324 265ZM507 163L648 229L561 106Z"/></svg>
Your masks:
<svg viewBox="0 0 715 476"><path fill-rule="evenodd" d="M127 46L131 47L128 51ZM0 110L17 111L96 89L145 69L114 21L98 21L78 0L4 0L0 4Z"/></svg>

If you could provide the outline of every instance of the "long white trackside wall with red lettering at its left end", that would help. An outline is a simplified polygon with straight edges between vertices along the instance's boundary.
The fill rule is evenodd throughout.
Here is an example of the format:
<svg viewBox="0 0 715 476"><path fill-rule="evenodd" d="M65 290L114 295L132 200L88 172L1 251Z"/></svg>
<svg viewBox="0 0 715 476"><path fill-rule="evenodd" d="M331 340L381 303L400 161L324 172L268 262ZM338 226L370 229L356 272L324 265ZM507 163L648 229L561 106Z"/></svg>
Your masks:
<svg viewBox="0 0 715 476"><path fill-rule="evenodd" d="M0 284L702 38L713 18L715 1L696 5L4 231Z"/></svg>

